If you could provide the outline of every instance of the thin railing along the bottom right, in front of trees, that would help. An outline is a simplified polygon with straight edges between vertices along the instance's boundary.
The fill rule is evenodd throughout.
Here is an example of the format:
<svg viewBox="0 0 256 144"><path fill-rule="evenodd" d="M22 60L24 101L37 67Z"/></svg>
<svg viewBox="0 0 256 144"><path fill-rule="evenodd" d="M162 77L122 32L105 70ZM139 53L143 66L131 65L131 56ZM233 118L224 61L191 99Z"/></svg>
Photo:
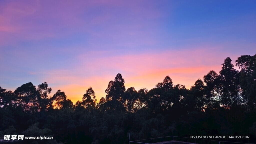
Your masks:
<svg viewBox="0 0 256 144"><path fill-rule="evenodd" d="M129 137L130 139L130 137ZM167 136L167 137L158 137L158 138L149 138L141 140L129 140L129 144L138 143L138 144L151 144L156 142L164 141L180 141L180 142L190 142L190 143L199 143L199 144L255 144L255 143L244 143L244 142L231 142L231 141L221 141L221 140L209 140L209 139L198 139L198 138L189 138L189 137L178 137L178 136Z"/></svg>

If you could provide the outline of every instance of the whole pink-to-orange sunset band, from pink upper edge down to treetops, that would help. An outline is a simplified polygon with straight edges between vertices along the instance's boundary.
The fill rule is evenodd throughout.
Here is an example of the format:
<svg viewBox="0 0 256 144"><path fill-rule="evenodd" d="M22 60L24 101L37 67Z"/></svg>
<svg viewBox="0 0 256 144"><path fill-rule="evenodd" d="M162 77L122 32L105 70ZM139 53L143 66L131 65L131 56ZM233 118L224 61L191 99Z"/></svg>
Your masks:
<svg viewBox="0 0 256 144"><path fill-rule="evenodd" d="M91 53L90 57L80 55L74 67L42 72L42 80L47 81L53 92L61 89L74 103L81 100L85 91L92 87L99 100L105 97L105 89L116 74L121 73L126 88L152 89L169 75L174 84L190 88L198 78L203 79L210 70L217 73L228 56L219 54L217 48L211 50L166 50L123 56L95 58L93 55L105 55L107 52ZM214 52L215 50L215 52ZM234 61L233 61L234 63Z"/></svg>

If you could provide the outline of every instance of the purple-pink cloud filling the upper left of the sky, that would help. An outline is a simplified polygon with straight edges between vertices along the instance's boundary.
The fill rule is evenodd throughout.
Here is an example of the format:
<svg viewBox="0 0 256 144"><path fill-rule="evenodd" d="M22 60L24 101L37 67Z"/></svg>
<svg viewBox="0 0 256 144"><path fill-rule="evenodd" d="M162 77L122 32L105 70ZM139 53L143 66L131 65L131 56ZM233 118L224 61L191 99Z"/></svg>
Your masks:
<svg viewBox="0 0 256 144"><path fill-rule="evenodd" d="M143 2L121 2L121 1L15 1L0 5L0 31L8 32L0 35L2 44L13 43L14 40L40 40L45 38L63 37L74 32L84 32L91 35L101 35L97 29L110 28L111 35L118 38L117 32L124 27L131 26L131 23L119 23L119 10L127 9L127 16L130 22L134 22L134 16L155 18L161 14L150 7L141 9L145 6ZM104 11L99 11L100 9ZM113 10L115 9L115 10ZM141 20L136 17L136 21ZM112 25L111 25L112 24ZM141 22L141 26L144 25ZM139 27L141 27L139 26ZM127 28L128 28L127 27ZM135 26L135 28L138 25ZM96 30L95 30L96 29ZM116 29L116 30L114 30ZM114 33L112 32L114 30ZM134 32L129 30L130 35ZM104 35L108 32L102 31ZM118 40L118 39L116 39Z"/></svg>

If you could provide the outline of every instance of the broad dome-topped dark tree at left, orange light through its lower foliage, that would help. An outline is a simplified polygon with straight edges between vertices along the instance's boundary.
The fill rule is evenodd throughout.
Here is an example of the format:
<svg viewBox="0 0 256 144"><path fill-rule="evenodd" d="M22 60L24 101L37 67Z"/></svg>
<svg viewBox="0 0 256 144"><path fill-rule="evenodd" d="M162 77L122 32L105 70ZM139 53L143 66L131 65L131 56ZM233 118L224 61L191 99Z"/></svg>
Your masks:
<svg viewBox="0 0 256 144"><path fill-rule="evenodd" d="M34 113L39 110L40 93L31 82L18 87L14 94L17 95L18 105L22 107L22 112Z"/></svg>

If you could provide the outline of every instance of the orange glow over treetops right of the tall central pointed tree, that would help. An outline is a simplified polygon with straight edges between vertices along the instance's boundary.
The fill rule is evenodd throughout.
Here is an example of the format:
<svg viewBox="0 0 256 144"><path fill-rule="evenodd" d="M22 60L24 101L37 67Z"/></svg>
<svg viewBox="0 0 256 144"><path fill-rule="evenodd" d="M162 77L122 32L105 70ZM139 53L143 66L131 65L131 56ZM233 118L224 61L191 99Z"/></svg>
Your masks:
<svg viewBox="0 0 256 144"><path fill-rule="evenodd" d="M220 69L219 66L213 67L193 67L193 68L170 68L170 69L159 69L150 71L139 76L126 78L126 88L134 87L136 90L140 88L147 88L148 90L155 87L158 82L162 82L164 77L169 75L174 85L182 84L187 89L190 89L194 85L198 78L203 79L212 69Z"/></svg>

